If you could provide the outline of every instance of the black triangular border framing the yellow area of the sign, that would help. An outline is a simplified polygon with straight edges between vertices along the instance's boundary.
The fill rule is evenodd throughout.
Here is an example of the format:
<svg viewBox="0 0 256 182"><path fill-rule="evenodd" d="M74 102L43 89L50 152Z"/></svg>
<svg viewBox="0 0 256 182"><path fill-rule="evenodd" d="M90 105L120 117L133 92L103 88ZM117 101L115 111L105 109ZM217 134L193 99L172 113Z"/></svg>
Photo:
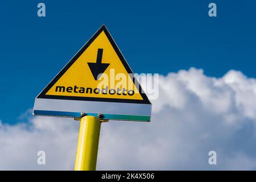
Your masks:
<svg viewBox="0 0 256 182"><path fill-rule="evenodd" d="M119 59L121 60L121 63L124 65L125 69L128 73L132 73L131 68L129 67L127 61L124 59L123 54L120 52L120 49L117 47L115 41L113 40L111 34L107 30L107 27L105 24L99 28L99 30L96 31L96 33L88 40L86 44L76 53L74 57L65 65L65 67L58 73L57 76L46 86L46 88L43 89L43 91L38 95L36 98L48 98L48 99L59 99L59 100L79 100L79 101L100 101L100 102L124 102L124 103L136 103L136 104L151 104L151 102L148 100L147 95L143 92L143 89L141 88L140 84L138 84L136 78L132 79L133 84L137 87L139 85L139 88L137 88L141 94L141 97L143 100L129 100L129 99L120 99L120 98L95 98L95 97L77 97L77 96L54 96L54 95L46 95L48 90L54 86L54 84L59 80L62 75L71 67L72 64L75 63L75 61L82 55L84 51L91 45L92 42L97 38L97 36L100 35L100 33L104 31L105 35L107 35L107 38L109 42L111 43L112 47L115 49L115 52L119 56Z"/></svg>

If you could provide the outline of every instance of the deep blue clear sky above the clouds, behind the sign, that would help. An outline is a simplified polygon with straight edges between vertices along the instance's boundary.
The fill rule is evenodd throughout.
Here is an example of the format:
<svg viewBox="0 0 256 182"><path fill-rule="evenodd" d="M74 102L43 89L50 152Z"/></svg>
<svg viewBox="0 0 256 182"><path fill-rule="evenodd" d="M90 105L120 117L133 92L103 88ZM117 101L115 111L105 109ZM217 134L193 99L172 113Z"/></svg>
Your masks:
<svg viewBox="0 0 256 182"><path fill-rule="evenodd" d="M136 73L196 67L256 77L255 1L39 1L0 3L0 119L15 123L104 23ZM217 17L208 4L217 4Z"/></svg>

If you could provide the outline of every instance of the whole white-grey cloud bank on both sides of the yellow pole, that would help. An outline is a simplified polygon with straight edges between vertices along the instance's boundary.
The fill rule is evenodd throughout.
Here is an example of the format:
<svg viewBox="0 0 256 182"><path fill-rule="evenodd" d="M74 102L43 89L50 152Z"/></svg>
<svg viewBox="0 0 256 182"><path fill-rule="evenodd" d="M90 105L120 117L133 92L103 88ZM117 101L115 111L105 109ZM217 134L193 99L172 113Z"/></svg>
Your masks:
<svg viewBox="0 0 256 182"><path fill-rule="evenodd" d="M101 124L97 169L256 169L256 80L191 68L159 77L152 121ZM25 114L26 115L26 114ZM24 115L22 115L24 117ZM0 169L73 169L79 122L0 125ZM39 150L46 165L37 164ZM217 152L217 165L208 152Z"/></svg>

